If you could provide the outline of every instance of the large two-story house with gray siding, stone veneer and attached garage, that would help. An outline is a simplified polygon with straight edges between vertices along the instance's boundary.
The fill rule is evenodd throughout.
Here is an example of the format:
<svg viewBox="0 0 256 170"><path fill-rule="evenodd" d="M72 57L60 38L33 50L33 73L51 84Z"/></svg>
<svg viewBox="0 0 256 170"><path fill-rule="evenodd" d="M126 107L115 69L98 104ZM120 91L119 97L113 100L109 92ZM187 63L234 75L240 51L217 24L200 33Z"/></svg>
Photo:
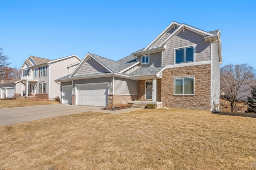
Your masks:
<svg viewBox="0 0 256 170"><path fill-rule="evenodd" d="M172 22L148 46L118 61L87 53L61 84L62 102L108 106L131 101L210 110L219 103L220 30Z"/></svg>

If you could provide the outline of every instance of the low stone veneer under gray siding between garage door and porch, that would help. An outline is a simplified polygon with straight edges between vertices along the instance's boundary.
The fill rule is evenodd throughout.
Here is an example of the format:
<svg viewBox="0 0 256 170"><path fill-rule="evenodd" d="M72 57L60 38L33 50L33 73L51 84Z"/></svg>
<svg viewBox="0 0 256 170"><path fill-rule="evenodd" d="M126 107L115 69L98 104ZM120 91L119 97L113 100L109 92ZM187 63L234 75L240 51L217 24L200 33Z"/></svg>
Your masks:
<svg viewBox="0 0 256 170"><path fill-rule="evenodd" d="M108 95L108 106L115 107L118 104L127 104L128 101L134 101L136 98L137 95Z"/></svg>

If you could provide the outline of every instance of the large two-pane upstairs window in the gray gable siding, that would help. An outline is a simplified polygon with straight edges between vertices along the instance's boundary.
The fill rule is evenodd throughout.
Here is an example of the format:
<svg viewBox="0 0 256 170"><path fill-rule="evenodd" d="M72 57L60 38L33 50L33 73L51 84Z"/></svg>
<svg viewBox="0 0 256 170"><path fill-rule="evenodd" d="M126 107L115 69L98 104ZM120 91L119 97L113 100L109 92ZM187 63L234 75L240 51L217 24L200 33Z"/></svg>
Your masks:
<svg viewBox="0 0 256 170"><path fill-rule="evenodd" d="M175 53L175 64L179 63L189 63L195 61L195 47L189 46L189 47L182 47L178 49L174 49Z"/></svg>

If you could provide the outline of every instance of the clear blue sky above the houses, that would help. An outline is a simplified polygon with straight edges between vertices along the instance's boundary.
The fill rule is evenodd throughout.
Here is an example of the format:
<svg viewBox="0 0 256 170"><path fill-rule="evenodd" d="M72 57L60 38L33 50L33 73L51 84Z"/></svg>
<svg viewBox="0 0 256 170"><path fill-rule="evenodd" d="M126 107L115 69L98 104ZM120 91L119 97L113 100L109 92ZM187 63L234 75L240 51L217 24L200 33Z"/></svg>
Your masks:
<svg viewBox="0 0 256 170"><path fill-rule="evenodd" d="M0 47L11 66L29 55L87 52L113 60L146 47L172 21L221 30L223 65L256 69L256 1L0 0Z"/></svg>

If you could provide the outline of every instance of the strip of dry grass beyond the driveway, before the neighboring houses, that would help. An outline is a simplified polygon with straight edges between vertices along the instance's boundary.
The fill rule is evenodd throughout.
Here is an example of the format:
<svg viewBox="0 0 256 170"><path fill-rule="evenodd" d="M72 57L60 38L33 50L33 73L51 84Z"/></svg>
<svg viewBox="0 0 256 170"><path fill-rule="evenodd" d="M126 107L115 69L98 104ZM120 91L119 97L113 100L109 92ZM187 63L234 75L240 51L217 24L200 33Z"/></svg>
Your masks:
<svg viewBox="0 0 256 170"><path fill-rule="evenodd" d="M58 101L35 101L32 99L7 99L7 100L0 100L0 109L10 108L10 107L24 107L24 106L37 106L37 105L54 105L60 104Z"/></svg>

